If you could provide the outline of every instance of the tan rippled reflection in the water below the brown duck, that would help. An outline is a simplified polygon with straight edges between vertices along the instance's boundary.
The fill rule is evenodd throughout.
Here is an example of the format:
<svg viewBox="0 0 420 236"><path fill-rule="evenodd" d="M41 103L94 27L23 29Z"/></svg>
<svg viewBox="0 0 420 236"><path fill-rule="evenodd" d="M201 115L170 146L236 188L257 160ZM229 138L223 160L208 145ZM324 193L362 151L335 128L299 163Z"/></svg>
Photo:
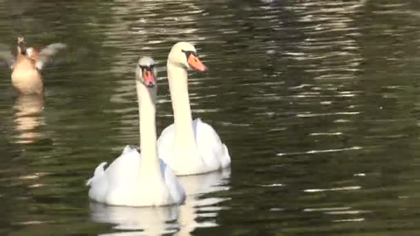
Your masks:
<svg viewBox="0 0 420 236"><path fill-rule="evenodd" d="M17 143L29 144L41 134L37 127L42 124L44 117L44 97L39 95L26 95L17 97L13 105L15 110L15 130L17 130Z"/></svg>

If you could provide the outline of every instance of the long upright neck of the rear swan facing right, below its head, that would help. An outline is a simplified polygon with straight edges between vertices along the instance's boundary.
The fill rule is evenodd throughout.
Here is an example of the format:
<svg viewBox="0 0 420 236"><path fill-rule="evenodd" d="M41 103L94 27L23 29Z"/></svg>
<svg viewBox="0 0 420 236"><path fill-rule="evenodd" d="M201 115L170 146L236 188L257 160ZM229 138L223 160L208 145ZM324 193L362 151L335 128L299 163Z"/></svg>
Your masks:
<svg viewBox="0 0 420 236"><path fill-rule="evenodd" d="M187 70L168 62L169 90L171 90L175 146L195 147L193 119L188 95Z"/></svg>

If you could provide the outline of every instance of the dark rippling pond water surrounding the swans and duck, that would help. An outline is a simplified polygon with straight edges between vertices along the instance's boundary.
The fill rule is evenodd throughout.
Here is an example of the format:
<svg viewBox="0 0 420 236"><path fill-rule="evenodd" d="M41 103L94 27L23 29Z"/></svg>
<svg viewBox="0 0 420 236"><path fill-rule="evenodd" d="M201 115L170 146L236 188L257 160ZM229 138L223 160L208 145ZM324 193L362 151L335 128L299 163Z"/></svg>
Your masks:
<svg viewBox="0 0 420 236"><path fill-rule="evenodd" d="M0 43L61 41L44 99L0 70L0 234L419 235L418 1L0 0ZM193 117L229 147L186 204L90 204L84 181L138 144L133 65L191 41Z"/></svg>

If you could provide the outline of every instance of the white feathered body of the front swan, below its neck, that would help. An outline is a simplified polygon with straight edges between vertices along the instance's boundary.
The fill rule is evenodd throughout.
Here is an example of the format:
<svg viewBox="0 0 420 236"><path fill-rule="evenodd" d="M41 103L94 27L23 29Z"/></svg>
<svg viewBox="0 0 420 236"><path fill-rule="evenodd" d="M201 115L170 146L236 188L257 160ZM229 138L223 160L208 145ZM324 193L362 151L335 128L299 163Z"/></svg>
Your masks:
<svg viewBox="0 0 420 236"><path fill-rule="evenodd" d="M185 193L178 179L164 161L160 161L163 182L155 175L142 175L140 153L126 146L108 168L102 162L86 184L94 201L117 206L163 206L182 203Z"/></svg>

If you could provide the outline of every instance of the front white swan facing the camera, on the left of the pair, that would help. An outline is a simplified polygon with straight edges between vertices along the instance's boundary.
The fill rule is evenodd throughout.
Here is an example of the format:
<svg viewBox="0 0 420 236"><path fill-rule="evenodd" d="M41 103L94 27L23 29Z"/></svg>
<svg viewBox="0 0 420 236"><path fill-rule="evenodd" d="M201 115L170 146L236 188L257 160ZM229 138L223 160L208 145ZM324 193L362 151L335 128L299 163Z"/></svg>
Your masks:
<svg viewBox="0 0 420 236"><path fill-rule="evenodd" d="M155 127L155 63L142 57L136 68L137 97L140 119L140 153L126 146L104 170L106 162L95 169L89 197L94 201L118 206L163 206L180 204L184 188L169 166L158 158Z"/></svg>

